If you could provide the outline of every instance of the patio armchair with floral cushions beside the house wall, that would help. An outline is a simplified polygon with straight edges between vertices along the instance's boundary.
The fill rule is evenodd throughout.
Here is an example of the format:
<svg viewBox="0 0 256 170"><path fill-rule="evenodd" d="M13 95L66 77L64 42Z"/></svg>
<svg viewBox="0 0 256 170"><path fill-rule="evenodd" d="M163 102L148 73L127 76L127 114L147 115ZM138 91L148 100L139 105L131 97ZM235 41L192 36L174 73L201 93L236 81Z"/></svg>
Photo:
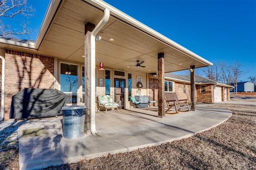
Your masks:
<svg viewBox="0 0 256 170"><path fill-rule="evenodd" d="M106 113L107 113L107 109L113 109L116 108L119 112L119 104L114 102L114 100L112 99L111 96L109 95L99 95L96 97L96 105L97 105L97 113L101 108L105 108L106 109Z"/></svg>

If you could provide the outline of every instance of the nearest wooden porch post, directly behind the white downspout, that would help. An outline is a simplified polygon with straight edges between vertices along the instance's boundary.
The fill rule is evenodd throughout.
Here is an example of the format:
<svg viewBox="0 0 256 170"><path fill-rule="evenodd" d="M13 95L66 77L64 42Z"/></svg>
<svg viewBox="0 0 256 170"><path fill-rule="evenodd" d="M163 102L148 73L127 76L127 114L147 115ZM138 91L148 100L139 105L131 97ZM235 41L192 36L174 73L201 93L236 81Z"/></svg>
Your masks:
<svg viewBox="0 0 256 170"><path fill-rule="evenodd" d="M90 51L90 38L92 30L95 28L95 25L92 23L86 23L85 25L85 36L84 36L84 105L87 107L86 114L85 114L85 133L90 134L90 115L91 115L91 108L90 104L91 101L95 99L91 99L90 97L90 63L91 63L91 51Z"/></svg>

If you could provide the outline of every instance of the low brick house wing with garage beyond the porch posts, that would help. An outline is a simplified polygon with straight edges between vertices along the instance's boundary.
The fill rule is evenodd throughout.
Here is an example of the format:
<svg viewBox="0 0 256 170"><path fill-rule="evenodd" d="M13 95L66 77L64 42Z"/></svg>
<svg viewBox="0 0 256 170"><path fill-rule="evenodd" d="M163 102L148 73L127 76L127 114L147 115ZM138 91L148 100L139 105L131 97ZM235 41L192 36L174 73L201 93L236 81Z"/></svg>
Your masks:
<svg viewBox="0 0 256 170"><path fill-rule="evenodd" d="M180 99L191 100L190 76L165 73L165 91L176 92ZM157 79L149 76L149 98L158 100ZM196 102L214 103L230 100L229 89L232 86L196 75ZM156 102L157 105L158 101Z"/></svg>

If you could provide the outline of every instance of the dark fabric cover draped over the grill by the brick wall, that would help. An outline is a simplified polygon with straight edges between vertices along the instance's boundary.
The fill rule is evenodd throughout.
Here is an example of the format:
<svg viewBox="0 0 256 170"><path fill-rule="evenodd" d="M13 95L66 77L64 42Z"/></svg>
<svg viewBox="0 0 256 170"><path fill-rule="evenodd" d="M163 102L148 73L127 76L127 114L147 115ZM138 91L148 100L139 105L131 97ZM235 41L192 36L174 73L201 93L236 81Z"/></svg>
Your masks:
<svg viewBox="0 0 256 170"><path fill-rule="evenodd" d="M12 96L10 119L60 115L63 106L66 94L57 89L24 88Z"/></svg>

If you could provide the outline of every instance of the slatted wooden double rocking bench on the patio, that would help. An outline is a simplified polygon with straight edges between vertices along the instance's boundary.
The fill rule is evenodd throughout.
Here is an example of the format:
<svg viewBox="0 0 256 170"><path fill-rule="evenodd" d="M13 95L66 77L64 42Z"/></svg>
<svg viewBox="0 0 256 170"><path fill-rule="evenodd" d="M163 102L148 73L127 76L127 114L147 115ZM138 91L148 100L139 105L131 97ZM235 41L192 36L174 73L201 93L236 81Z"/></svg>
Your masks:
<svg viewBox="0 0 256 170"><path fill-rule="evenodd" d="M172 107L175 107L176 113L180 111L180 109L184 109L182 111L190 111L188 106L188 99L179 100L178 96L175 92L164 92L164 99L168 106L168 109L165 111L167 113Z"/></svg>

